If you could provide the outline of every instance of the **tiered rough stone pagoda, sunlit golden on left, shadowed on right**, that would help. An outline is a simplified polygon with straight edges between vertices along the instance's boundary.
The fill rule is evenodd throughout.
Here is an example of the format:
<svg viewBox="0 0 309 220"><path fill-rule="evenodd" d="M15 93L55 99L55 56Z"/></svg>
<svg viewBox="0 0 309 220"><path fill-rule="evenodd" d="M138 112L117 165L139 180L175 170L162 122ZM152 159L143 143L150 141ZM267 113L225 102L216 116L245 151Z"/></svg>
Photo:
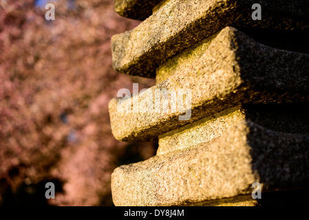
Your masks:
<svg viewBox="0 0 309 220"><path fill-rule="evenodd" d="M156 85L111 100L111 129L122 142L159 142L156 156L114 170L114 204L260 206L306 197L309 1L114 3L142 21L112 37L114 69Z"/></svg>

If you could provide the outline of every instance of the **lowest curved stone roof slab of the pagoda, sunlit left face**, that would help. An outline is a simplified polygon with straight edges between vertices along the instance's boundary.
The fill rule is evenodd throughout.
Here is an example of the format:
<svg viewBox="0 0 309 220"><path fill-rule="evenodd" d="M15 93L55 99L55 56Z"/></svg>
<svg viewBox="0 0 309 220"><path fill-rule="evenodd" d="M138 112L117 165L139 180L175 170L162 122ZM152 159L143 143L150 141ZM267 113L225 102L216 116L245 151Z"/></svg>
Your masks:
<svg viewBox="0 0 309 220"><path fill-rule="evenodd" d="M309 136L239 121L221 137L144 162L111 176L116 206L181 206L309 186Z"/></svg>

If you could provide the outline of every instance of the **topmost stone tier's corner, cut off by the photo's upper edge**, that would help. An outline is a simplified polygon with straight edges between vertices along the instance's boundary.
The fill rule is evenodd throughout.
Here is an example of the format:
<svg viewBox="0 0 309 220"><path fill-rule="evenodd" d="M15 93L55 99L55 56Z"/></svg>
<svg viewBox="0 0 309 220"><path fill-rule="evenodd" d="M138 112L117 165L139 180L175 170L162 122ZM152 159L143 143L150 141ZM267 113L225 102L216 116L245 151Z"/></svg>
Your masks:
<svg viewBox="0 0 309 220"><path fill-rule="evenodd" d="M145 20L162 0L114 0L116 12L128 19Z"/></svg>

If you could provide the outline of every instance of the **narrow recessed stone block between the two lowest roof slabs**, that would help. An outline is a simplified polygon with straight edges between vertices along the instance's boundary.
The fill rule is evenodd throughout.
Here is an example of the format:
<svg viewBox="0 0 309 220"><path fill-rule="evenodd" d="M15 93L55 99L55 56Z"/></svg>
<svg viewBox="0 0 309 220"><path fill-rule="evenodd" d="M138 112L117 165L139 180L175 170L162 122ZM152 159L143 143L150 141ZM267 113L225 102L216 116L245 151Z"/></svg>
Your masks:
<svg viewBox="0 0 309 220"><path fill-rule="evenodd" d="M157 154L196 146L220 137L239 120L251 120L267 129L309 134L308 104L253 104L233 107L159 136Z"/></svg>

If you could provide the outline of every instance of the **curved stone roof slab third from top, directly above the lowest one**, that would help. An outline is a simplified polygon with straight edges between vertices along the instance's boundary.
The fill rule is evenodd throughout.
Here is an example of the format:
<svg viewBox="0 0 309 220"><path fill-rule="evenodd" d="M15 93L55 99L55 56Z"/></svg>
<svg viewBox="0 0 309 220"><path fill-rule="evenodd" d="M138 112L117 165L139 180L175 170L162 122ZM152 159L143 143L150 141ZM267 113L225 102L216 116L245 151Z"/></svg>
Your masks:
<svg viewBox="0 0 309 220"><path fill-rule="evenodd" d="M120 100L132 108L133 103L141 103L156 89L191 89L191 119L178 120L179 112L117 111ZM241 104L304 102L309 100L308 93L308 54L268 47L227 27L194 65L179 69L140 97L111 100L111 129L116 139L124 142L156 140L158 135L224 109Z"/></svg>

